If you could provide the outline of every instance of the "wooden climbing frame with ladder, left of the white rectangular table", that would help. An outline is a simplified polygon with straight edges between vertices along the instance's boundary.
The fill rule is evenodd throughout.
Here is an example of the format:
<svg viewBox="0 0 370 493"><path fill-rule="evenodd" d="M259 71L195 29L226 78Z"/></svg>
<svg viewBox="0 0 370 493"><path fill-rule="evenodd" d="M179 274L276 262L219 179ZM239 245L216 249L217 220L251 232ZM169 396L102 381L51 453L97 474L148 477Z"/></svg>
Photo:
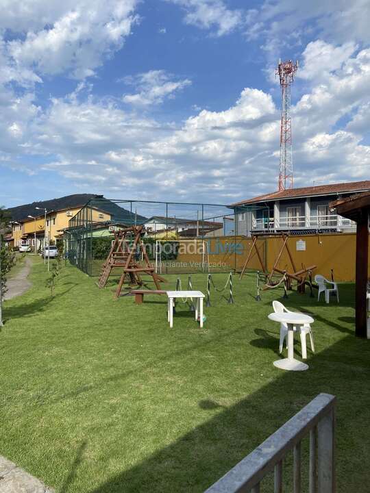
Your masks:
<svg viewBox="0 0 370 493"><path fill-rule="evenodd" d="M123 271L116 288L116 298L121 295L121 290L125 283L130 286L143 286L142 274L150 275L153 278L157 291L160 291L160 282L166 282L166 280L155 272L155 268L149 261L142 238L144 232L145 228L143 226L130 226L119 231L114 231L112 247L110 247L106 261L101 266L98 281L99 288L106 286L112 274L112 269L119 267L123 268ZM140 265L137 260L138 255L139 257L143 257L144 265Z"/></svg>

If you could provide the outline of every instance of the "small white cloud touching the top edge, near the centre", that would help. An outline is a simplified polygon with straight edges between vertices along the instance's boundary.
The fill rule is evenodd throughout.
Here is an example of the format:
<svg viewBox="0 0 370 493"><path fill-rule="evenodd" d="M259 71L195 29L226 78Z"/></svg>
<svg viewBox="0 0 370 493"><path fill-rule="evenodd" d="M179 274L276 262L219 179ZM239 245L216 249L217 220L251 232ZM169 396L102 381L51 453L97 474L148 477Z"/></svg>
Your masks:
<svg viewBox="0 0 370 493"><path fill-rule="evenodd" d="M167 0L184 8L186 24L201 29L215 28L217 36L234 31L243 24L240 10L230 10L222 0Z"/></svg>

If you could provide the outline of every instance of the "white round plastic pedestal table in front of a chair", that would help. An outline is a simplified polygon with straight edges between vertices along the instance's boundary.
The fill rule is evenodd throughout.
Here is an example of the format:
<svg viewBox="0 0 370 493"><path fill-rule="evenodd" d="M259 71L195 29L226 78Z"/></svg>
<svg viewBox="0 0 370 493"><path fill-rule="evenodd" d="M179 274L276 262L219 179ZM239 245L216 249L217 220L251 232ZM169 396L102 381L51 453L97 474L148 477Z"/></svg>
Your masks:
<svg viewBox="0 0 370 493"><path fill-rule="evenodd" d="M274 366L281 368L282 370L302 371L308 370L308 364L300 362L294 357L294 327L299 327L305 323L314 323L314 319L306 314L295 312L283 312L269 314L269 319L274 322L286 323L288 327L288 357L284 359L277 359L273 362Z"/></svg>

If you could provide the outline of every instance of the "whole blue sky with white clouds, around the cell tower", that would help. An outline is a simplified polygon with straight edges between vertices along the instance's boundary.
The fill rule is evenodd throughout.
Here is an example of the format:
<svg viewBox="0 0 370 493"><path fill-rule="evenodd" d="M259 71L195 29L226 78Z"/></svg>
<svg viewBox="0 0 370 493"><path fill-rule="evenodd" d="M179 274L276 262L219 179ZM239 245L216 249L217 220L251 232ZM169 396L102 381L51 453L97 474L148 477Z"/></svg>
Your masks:
<svg viewBox="0 0 370 493"><path fill-rule="evenodd" d="M227 204L370 179L370 0L0 0L0 205Z"/></svg>

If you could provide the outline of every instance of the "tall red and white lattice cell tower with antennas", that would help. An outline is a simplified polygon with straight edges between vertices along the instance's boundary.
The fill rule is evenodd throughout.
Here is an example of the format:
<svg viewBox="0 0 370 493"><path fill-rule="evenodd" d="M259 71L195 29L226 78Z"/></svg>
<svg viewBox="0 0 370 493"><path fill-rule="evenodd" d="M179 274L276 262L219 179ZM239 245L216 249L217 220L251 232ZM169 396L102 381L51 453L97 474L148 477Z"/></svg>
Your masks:
<svg viewBox="0 0 370 493"><path fill-rule="evenodd" d="M282 121L280 125L280 173L279 190L293 188L292 159L292 121L291 121L291 84L297 72L298 62L282 62L276 68L282 88Z"/></svg>

